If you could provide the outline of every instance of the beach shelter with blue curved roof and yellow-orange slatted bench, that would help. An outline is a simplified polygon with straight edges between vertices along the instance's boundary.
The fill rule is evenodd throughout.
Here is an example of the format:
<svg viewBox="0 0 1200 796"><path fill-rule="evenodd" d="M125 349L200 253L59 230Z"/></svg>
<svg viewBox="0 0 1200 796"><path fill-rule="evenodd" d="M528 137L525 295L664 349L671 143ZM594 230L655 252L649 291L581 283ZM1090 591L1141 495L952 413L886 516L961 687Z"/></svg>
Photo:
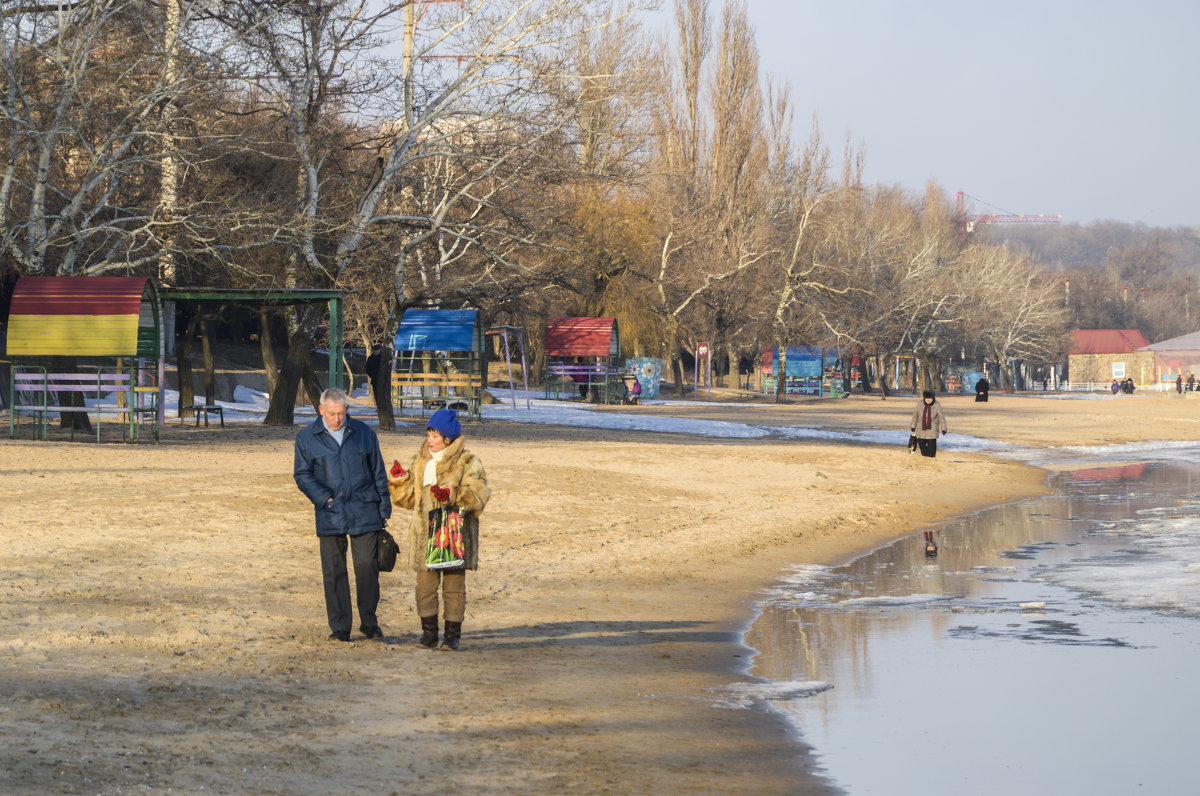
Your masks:
<svg viewBox="0 0 1200 796"><path fill-rule="evenodd" d="M482 420L484 327L479 310L404 312L396 331L391 400L404 415L415 406L421 417L442 407L464 408Z"/></svg>

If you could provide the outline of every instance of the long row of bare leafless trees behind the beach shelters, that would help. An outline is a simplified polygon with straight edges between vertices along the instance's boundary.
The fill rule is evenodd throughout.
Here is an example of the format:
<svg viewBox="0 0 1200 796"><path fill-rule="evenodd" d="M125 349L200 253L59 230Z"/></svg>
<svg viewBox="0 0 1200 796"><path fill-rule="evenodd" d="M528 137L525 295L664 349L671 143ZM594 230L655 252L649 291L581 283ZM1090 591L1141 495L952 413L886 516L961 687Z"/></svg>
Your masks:
<svg viewBox="0 0 1200 796"><path fill-rule="evenodd" d="M701 340L734 372L798 342L876 375L906 354L930 385L946 357L1061 358L1028 251L798 133L744 1L672 11L660 32L622 0L5 4L0 269L353 291L364 345L412 306L611 315L680 388ZM268 423L324 323L284 321Z"/></svg>

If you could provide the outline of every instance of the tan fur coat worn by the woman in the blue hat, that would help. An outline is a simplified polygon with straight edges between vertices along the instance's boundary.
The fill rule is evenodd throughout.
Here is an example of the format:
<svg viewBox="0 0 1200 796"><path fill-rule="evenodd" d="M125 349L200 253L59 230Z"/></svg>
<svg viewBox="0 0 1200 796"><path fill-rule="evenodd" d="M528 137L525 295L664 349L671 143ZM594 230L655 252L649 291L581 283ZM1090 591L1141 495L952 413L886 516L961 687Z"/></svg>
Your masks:
<svg viewBox="0 0 1200 796"><path fill-rule="evenodd" d="M428 486L422 486L425 465L432 459L428 441L422 442L408 472L400 478L388 474L388 490L391 502L409 510L408 519L408 565L414 570L425 569L425 546L428 543L428 514L438 507L430 493ZM492 491L487 487L487 475L484 463L475 454L463 447L458 437L445 448L442 461L438 462L438 486L451 490L450 503L462 510L462 540L464 547L463 567L479 569L479 515L487 505ZM397 516L401 516L397 514ZM396 533L398 537L400 533Z"/></svg>

